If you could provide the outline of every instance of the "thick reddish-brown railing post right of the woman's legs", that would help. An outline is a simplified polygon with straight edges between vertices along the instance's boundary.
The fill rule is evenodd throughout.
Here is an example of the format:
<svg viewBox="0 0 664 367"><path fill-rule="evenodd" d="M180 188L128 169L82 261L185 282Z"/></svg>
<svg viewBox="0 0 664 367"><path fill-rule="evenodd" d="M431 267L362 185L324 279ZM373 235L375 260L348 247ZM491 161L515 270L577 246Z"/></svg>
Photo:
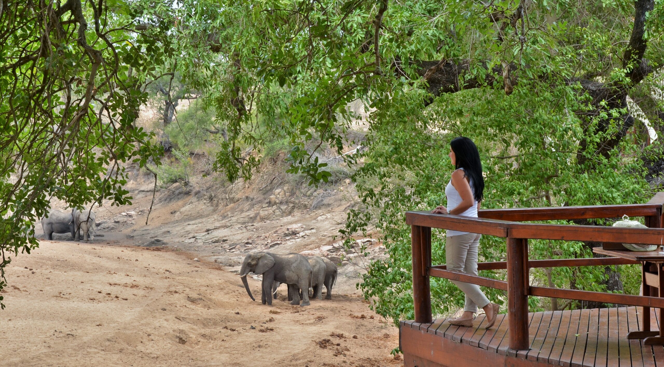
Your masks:
<svg viewBox="0 0 664 367"><path fill-rule="evenodd" d="M509 348L528 350L528 240L507 238Z"/></svg>

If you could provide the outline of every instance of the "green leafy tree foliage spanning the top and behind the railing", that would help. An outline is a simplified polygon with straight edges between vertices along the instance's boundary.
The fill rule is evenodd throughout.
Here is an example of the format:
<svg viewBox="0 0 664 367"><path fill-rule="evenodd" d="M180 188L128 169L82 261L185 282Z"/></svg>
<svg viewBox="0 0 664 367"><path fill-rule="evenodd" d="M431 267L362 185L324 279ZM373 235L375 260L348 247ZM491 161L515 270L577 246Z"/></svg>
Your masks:
<svg viewBox="0 0 664 367"><path fill-rule="evenodd" d="M2 126L17 129L25 119L48 131L58 121L61 128L48 136L60 140L50 149L76 147L76 142L84 148L70 148L67 153L75 158L54 163L62 173L56 168L35 173L48 172L44 187L52 187L37 189L32 183L26 188L41 197L37 207L42 211L7 206L3 213L23 214L13 214L5 233L19 238L16 221L29 228L29 221L43 213L47 192L85 192L76 195L82 199L75 204L102 193L122 201L126 193L114 185L122 179L112 181L102 167L156 155L149 136L131 129L144 86L153 80L177 76L178 83L197 91L205 109L214 111L210 132L222 132L214 135L220 146L214 168L230 180L248 179L259 167L260 153L246 154L247 148L261 152L274 136L286 136L289 172L305 174L312 183L326 181L330 173L317 151L332 148L341 155L353 144L348 132L357 117L347 106L361 101L371 112L363 122L369 126L363 145L369 148L343 158L355 168L353 180L364 206L349 213L345 233L380 231L390 258L370 264L360 287L381 315L412 317L403 212L444 203L443 188L452 172L448 142L454 136L469 136L481 150L484 207L649 199L664 162L659 146L663 8L661 0L7 3L0 7L0 25L10 25L0 37L8 40L0 46L0 116L9 123ZM34 26L21 30L29 21ZM53 78L58 82L47 84L50 89L40 89L43 80L56 75L51 65L62 77ZM17 77L21 73L37 74L25 79ZM161 80L161 89L170 91ZM74 87L80 88L71 93L75 103L44 109L48 113L2 110L9 99L31 107L63 103L67 88ZM172 102L167 99L167 105ZM99 111L109 117L102 119ZM104 127L113 125L109 121L117 125L111 131L131 134L109 146L102 139ZM58 131L82 137L64 140ZM88 131L99 137L90 139ZM100 161L92 147L108 152L107 158ZM81 153L73 154L76 149ZM30 155L20 146L11 151L21 152L19 162L30 159L23 158ZM33 145L27 151L42 152ZM90 170L90 162L99 163ZM7 182L10 173L23 172L11 170ZM93 181L100 183L84 184ZM20 196L12 200L27 202ZM14 240L27 241L25 236ZM480 256L500 259L504 246L486 237ZM540 257L590 255L588 244L575 242L533 241L531 247ZM444 236L436 234L434 261L443 259ZM539 275L561 287L623 289L616 272L601 268ZM432 284L434 312L461 302L447 281ZM501 297L497 291L490 294ZM542 307L532 302L533 308Z"/></svg>

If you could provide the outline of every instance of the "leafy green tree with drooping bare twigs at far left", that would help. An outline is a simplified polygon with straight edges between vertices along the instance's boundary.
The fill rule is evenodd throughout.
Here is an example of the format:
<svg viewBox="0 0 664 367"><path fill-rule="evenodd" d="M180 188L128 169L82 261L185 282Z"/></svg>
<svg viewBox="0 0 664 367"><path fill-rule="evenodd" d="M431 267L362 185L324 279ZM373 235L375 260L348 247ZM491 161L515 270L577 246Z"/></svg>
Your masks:
<svg viewBox="0 0 664 367"><path fill-rule="evenodd" d="M0 0L0 289L52 197L129 203L123 163L159 162L134 121L170 25L140 5Z"/></svg>

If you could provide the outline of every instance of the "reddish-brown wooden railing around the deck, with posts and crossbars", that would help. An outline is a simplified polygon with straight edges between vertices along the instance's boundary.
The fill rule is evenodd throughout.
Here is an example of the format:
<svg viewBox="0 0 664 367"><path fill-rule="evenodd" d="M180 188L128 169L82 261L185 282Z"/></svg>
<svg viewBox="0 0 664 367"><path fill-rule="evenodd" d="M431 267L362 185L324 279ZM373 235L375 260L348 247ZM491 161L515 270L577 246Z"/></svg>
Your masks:
<svg viewBox="0 0 664 367"><path fill-rule="evenodd" d="M432 322L430 276L507 291L509 347L515 350L527 350L529 348L529 295L664 308L664 298L659 297L535 287L529 284L530 268L639 264L638 262L622 258L572 258L555 260L529 260L528 258L529 238L662 244L664 241L663 203L664 193L657 193L651 201L645 204L483 209L479 211L479 218L431 214L424 211L409 211L406 213L406 223L411 226L415 321L418 323ZM622 217L622 215L645 217L645 224L649 228L633 229L586 225L519 223L523 221L546 221L554 219L615 218ZM507 281L452 272L447 270L444 265L432 266L432 228L452 229L507 238L507 261L483 262L477 266L478 270L507 269Z"/></svg>

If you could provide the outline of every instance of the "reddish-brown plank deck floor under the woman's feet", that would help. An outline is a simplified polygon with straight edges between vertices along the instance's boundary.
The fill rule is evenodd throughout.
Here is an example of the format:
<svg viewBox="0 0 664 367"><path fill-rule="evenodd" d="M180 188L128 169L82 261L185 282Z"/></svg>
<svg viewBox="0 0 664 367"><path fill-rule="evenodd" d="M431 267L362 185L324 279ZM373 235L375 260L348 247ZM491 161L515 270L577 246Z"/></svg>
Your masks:
<svg viewBox="0 0 664 367"><path fill-rule="evenodd" d="M508 348L507 315L499 315L489 330L483 315L472 328L446 319L402 321L400 346L406 367L664 367L664 346L626 338L639 330L640 312L641 307L620 307L529 313L531 350L520 351ZM653 329L661 327L654 309L651 320Z"/></svg>

